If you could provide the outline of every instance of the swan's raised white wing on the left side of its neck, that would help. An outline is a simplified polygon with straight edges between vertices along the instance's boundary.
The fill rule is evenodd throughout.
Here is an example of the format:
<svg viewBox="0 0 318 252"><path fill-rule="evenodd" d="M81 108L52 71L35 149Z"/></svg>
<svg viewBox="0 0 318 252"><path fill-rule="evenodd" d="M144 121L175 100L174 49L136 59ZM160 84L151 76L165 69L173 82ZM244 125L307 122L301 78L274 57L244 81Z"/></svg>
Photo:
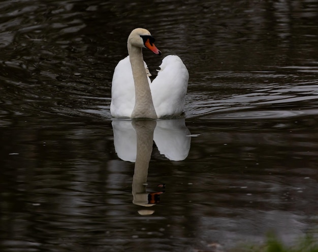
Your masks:
<svg viewBox="0 0 318 252"><path fill-rule="evenodd" d="M147 75L150 76L146 63ZM148 77L150 83L150 79ZM130 117L135 106L135 85L129 56L120 60L112 80L110 112L113 117Z"/></svg>

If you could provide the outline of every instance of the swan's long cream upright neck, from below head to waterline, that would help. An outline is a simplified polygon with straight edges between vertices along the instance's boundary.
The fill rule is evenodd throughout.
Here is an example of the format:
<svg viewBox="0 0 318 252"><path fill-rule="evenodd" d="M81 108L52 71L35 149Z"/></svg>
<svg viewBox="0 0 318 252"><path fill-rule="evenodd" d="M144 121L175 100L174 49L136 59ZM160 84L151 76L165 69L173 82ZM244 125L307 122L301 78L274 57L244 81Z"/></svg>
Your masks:
<svg viewBox="0 0 318 252"><path fill-rule="evenodd" d="M128 53L135 82L135 107L131 118L157 119L144 66L142 48L128 43Z"/></svg>

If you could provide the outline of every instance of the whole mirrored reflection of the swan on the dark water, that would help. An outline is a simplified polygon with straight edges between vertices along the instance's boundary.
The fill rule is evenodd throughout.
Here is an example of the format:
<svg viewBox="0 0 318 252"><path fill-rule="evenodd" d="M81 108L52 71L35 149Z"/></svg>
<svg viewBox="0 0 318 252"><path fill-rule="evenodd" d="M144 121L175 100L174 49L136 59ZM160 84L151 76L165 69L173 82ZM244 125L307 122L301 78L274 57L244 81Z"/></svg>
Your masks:
<svg viewBox="0 0 318 252"><path fill-rule="evenodd" d="M161 154L170 160L183 160L190 149L189 130L184 119L175 120L113 120L114 146L118 157L135 162L133 177L133 203L153 206L163 192L147 193L147 176L153 139ZM139 210L152 214L153 210Z"/></svg>

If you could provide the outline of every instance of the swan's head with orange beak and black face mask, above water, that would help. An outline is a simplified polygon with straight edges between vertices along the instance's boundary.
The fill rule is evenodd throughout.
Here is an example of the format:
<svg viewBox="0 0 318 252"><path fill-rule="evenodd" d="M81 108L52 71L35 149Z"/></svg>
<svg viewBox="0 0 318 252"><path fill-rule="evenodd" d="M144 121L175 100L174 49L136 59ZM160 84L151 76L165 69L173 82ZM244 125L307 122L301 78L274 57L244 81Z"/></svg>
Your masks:
<svg viewBox="0 0 318 252"><path fill-rule="evenodd" d="M154 45L154 38L147 29L134 29L129 35L127 43L135 47L148 48L153 53L161 55L161 51Z"/></svg>

